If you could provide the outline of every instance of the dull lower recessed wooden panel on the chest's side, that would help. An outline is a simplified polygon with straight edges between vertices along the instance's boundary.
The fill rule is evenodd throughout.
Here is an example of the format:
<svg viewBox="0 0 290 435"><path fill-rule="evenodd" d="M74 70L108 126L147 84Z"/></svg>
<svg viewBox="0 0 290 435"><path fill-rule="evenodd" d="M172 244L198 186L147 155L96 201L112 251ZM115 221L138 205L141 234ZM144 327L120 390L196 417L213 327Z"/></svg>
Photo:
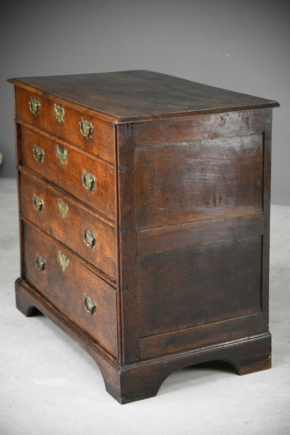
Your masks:
<svg viewBox="0 0 290 435"><path fill-rule="evenodd" d="M140 337L261 310L261 236L138 258Z"/></svg>

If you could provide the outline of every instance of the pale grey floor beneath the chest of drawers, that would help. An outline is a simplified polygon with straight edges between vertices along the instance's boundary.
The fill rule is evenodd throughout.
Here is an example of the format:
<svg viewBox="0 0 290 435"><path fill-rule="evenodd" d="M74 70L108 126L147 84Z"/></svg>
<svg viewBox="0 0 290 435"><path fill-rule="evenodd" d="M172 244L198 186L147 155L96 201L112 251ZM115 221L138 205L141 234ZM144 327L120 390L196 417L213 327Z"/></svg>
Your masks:
<svg viewBox="0 0 290 435"><path fill-rule="evenodd" d="M290 434L290 206L272 206L270 331L273 368L179 370L157 397L119 405L93 360L45 316L15 308L20 274L17 192L0 178L1 435Z"/></svg>

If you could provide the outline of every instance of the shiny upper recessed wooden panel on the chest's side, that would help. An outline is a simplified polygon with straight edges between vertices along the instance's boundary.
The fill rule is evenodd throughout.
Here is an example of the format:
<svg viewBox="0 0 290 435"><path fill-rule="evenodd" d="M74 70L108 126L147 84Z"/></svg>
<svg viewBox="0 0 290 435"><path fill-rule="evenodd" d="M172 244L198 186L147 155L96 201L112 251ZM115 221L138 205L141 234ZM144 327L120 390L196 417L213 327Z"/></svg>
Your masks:
<svg viewBox="0 0 290 435"><path fill-rule="evenodd" d="M257 213L264 135L137 148L137 229Z"/></svg>

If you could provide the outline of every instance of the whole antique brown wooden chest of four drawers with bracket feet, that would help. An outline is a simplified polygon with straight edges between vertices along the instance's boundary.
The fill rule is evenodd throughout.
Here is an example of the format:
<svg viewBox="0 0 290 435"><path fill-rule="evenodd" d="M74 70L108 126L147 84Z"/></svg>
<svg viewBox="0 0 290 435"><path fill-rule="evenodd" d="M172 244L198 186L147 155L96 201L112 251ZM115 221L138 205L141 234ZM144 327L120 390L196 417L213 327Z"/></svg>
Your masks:
<svg viewBox="0 0 290 435"><path fill-rule="evenodd" d="M8 81L19 310L76 339L120 403L208 360L270 367L278 103L145 70Z"/></svg>

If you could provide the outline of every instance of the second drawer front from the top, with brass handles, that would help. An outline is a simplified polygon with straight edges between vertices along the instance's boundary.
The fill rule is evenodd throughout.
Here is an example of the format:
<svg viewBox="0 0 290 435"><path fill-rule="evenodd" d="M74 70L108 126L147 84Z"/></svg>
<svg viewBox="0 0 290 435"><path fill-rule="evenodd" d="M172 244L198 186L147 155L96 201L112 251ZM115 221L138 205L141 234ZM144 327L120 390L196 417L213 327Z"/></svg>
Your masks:
<svg viewBox="0 0 290 435"><path fill-rule="evenodd" d="M22 165L115 220L114 168L22 125Z"/></svg>

